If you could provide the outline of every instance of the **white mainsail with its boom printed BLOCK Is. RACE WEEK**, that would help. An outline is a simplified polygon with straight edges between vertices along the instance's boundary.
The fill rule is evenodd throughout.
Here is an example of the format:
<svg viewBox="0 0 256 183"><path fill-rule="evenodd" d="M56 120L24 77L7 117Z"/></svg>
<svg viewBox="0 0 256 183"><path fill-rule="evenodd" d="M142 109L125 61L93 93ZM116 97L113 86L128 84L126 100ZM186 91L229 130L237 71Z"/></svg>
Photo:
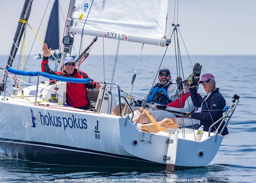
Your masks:
<svg viewBox="0 0 256 183"><path fill-rule="evenodd" d="M166 0L76 0L70 32L163 46L167 11Z"/></svg>

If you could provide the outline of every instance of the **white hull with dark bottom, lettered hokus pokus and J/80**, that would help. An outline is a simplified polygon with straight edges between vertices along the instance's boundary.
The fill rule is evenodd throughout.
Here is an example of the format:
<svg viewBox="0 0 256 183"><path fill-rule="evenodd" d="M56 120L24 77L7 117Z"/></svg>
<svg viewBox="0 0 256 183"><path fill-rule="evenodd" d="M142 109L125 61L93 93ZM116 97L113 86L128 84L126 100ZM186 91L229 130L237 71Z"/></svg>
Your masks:
<svg viewBox="0 0 256 183"><path fill-rule="evenodd" d="M58 105L35 106L17 97L2 99L1 96L0 153L8 157L53 164L165 167L165 132L154 134L152 144L139 142L133 146L132 141L140 141L142 132L129 121L124 126L125 118ZM32 127L31 110L36 127ZM215 135L207 138L205 132L198 142L193 140L192 129L186 129L186 139L182 139L181 129L177 130L176 166L210 163L223 139L218 135L215 142ZM204 153L202 157L198 156L200 151Z"/></svg>

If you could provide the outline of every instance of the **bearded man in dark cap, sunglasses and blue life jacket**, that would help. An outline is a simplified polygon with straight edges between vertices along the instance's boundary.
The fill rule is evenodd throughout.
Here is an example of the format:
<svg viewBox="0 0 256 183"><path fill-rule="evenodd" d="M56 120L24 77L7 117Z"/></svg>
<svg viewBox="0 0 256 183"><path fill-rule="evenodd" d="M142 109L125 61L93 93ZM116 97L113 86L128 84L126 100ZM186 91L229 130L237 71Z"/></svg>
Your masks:
<svg viewBox="0 0 256 183"><path fill-rule="evenodd" d="M150 90L147 96L144 99L138 100L135 103L135 106L132 106L134 112L134 117L140 114L138 110L139 107L153 107L155 104L167 105L168 103L179 99L178 87L177 84L172 83L172 76L167 68L162 68L159 70L158 83ZM122 104L122 108L124 104ZM119 105L111 113L112 115L119 114Z"/></svg>

